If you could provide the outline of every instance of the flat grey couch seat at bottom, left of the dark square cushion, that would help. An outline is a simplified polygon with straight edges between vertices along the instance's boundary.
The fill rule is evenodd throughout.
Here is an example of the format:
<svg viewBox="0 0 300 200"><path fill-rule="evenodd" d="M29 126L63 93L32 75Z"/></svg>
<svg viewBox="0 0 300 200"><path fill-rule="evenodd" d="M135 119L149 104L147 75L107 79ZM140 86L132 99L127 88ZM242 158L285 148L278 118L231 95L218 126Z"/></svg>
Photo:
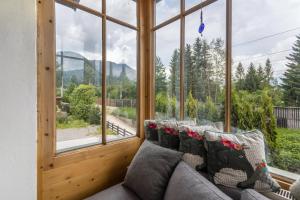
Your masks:
<svg viewBox="0 0 300 200"><path fill-rule="evenodd" d="M140 200L140 198L131 192L129 189L122 186L122 184L118 184L115 186L112 186L102 192L99 192L86 200L103 200L103 199L109 199L109 200Z"/></svg>

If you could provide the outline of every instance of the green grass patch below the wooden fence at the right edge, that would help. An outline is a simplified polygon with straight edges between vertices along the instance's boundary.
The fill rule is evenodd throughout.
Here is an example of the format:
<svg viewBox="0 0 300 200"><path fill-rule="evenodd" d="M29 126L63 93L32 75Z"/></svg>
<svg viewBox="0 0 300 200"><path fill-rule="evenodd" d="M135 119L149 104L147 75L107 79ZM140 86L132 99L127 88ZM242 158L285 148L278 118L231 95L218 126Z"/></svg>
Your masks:
<svg viewBox="0 0 300 200"><path fill-rule="evenodd" d="M300 174L300 129L277 129L275 165Z"/></svg>

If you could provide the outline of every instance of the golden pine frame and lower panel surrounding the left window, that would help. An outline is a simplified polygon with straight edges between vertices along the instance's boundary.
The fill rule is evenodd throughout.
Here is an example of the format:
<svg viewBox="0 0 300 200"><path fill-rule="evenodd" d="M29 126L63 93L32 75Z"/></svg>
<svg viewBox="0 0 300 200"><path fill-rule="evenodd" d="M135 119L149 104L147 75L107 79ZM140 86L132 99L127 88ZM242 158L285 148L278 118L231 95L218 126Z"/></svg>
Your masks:
<svg viewBox="0 0 300 200"><path fill-rule="evenodd" d="M106 1L102 0L102 12L93 10L82 4L78 4L72 0L38 0L37 1L37 91L38 91L38 159L37 159L37 174L38 174L38 199L80 199L95 193L101 188L112 185L116 181L122 180L126 172L126 166L130 163L135 152L144 140L144 125L145 118L149 118L146 108L146 92L149 84L146 82L146 51L147 51L147 15L146 4L148 1L138 0L137 2L137 25L133 26L122 20L106 15ZM55 95L55 3L64 4L71 7L76 7L82 11L102 18L102 74L105 73L106 60L106 21L114 22L123 27L135 30L137 33L137 132L136 136L122 140L106 142L105 131L105 98L106 98L106 76L102 78L102 144L94 146L74 149L62 153L56 152L56 95ZM149 91L149 90L148 90ZM76 168L82 167L89 170L94 165L92 162L114 162L111 165L105 165L103 170L111 168L120 169L111 177L105 175L103 180L92 183L87 181L87 176L83 177L80 171L76 172ZM74 169L72 169L72 167ZM70 168L70 169L68 169ZM73 172L74 180L71 175L67 178L69 182L64 182L61 186L65 190L65 194L60 194L57 187L58 182L66 180L62 179L63 174ZM99 171L101 171L99 169ZM58 175L57 173L61 175ZM93 171L87 173L91 174ZM100 172L99 172L100 173ZM81 186L83 182L85 185ZM94 179L94 178L93 178ZM96 179L96 177L95 177ZM73 180L73 182L71 182ZM78 188L74 189L74 182L78 181ZM80 184L79 184L80 183ZM62 184L62 183L61 183ZM89 187L87 187L89 185ZM70 191L73 191L72 193ZM74 193L74 194L73 194ZM55 196L55 197L53 197ZM62 197L64 196L64 197Z"/></svg>

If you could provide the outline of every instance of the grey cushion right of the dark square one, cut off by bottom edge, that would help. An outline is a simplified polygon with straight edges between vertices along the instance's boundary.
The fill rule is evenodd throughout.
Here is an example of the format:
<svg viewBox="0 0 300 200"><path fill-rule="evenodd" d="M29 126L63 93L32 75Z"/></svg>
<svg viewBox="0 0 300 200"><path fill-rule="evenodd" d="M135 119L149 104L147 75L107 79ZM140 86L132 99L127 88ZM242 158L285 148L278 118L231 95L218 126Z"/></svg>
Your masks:
<svg viewBox="0 0 300 200"><path fill-rule="evenodd" d="M182 161L169 181L164 200L183 199L229 200L230 197Z"/></svg>

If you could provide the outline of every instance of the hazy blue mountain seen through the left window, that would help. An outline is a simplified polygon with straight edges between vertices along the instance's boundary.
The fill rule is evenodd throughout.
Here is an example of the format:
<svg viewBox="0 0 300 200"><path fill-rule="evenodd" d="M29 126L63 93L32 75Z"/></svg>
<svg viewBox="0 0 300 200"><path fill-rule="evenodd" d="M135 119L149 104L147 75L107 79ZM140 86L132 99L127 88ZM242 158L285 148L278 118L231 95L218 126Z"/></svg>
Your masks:
<svg viewBox="0 0 300 200"><path fill-rule="evenodd" d="M63 65L61 64L63 63ZM96 70L96 84L100 85L102 76L102 61L89 60L84 56L71 52L62 51L56 53L57 70L61 70L63 66L64 84L68 85L72 77L76 77L78 83L82 83L84 79L84 66L88 65L90 68ZM131 81L136 81L137 72L127 64L117 64L111 61L106 62L106 76L112 73L112 77L119 77L124 68L127 78Z"/></svg>

